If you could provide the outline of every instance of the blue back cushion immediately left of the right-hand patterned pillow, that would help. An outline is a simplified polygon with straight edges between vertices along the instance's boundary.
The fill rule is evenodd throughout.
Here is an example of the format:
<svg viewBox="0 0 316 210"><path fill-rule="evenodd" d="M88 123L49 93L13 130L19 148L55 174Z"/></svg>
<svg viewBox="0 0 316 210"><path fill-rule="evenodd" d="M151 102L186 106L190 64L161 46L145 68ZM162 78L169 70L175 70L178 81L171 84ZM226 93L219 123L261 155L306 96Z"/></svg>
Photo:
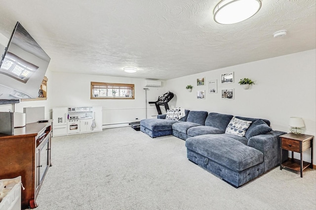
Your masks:
<svg viewBox="0 0 316 210"><path fill-rule="evenodd" d="M216 127L222 131L225 131L228 123L232 120L233 115L224 115L219 113L211 112L208 114L205 125Z"/></svg>

